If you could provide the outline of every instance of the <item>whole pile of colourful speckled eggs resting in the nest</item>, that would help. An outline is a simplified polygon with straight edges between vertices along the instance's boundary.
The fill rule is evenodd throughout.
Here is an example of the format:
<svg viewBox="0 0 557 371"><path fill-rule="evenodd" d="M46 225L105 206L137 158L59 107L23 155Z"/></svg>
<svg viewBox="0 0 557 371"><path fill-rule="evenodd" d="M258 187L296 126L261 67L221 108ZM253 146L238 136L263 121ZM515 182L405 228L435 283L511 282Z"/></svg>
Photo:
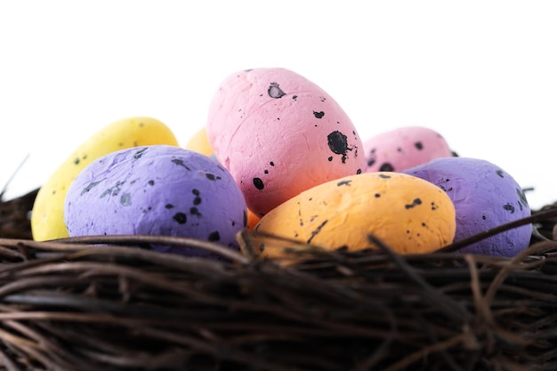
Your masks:
<svg viewBox="0 0 557 371"><path fill-rule="evenodd" d="M31 227L36 240L170 235L235 249L245 229L327 249L376 248L373 235L421 254L529 214L509 173L457 156L440 133L407 126L362 141L319 85L267 68L225 77L184 147L149 117L103 128L44 184ZM513 256L530 233L525 225L461 251Z"/></svg>

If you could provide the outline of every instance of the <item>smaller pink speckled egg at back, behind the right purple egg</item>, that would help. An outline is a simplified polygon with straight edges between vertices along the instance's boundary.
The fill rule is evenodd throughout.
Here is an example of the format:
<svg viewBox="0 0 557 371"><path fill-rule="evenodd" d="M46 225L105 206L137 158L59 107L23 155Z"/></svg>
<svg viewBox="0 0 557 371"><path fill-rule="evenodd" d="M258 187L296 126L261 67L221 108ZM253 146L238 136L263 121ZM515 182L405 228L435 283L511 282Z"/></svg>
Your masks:
<svg viewBox="0 0 557 371"><path fill-rule="evenodd" d="M366 173L400 172L433 158L453 157L440 133L424 126L399 127L364 141Z"/></svg>

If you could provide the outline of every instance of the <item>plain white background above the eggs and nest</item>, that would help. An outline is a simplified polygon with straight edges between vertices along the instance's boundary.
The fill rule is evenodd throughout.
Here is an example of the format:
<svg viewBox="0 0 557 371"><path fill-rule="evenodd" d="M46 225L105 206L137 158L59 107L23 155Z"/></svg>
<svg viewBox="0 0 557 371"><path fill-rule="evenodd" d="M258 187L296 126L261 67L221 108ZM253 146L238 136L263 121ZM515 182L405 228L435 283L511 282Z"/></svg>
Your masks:
<svg viewBox="0 0 557 371"><path fill-rule="evenodd" d="M117 119L185 144L241 69L283 67L338 101L362 140L443 134L557 200L557 2L0 1L0 187L34 189Z"/></svg>

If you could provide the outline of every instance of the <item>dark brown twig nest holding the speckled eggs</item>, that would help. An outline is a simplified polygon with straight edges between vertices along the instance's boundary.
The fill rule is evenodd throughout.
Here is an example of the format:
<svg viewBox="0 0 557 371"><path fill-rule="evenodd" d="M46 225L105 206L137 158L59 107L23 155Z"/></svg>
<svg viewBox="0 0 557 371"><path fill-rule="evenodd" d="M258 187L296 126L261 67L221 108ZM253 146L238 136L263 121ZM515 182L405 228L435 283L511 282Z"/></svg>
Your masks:
<svg viewBox="0 0 557 371"><path fill-rule="evenodd" d="M474 237L533 222L512 259L276 240L286 266L252 254L248 232L241 252L165 236L36 242L35 194L0 204L2 370L557 369L557 206Z"/></svg>

